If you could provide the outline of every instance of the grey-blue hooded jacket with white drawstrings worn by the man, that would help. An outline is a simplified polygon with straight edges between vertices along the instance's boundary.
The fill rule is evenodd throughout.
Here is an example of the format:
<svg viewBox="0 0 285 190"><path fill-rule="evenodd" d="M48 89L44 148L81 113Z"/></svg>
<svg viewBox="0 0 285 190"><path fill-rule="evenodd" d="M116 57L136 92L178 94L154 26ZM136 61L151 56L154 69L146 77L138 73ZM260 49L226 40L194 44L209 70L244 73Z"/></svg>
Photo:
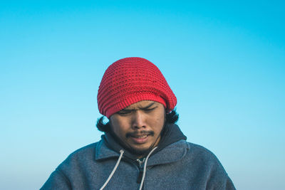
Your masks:
<svg viewBox="0 0 285 190"><path fill-rule="evenodd" d="M142 164L125 152L103 135L73 152L41 189L235 189L217 157L185 139L150 152Z"/></svg>

